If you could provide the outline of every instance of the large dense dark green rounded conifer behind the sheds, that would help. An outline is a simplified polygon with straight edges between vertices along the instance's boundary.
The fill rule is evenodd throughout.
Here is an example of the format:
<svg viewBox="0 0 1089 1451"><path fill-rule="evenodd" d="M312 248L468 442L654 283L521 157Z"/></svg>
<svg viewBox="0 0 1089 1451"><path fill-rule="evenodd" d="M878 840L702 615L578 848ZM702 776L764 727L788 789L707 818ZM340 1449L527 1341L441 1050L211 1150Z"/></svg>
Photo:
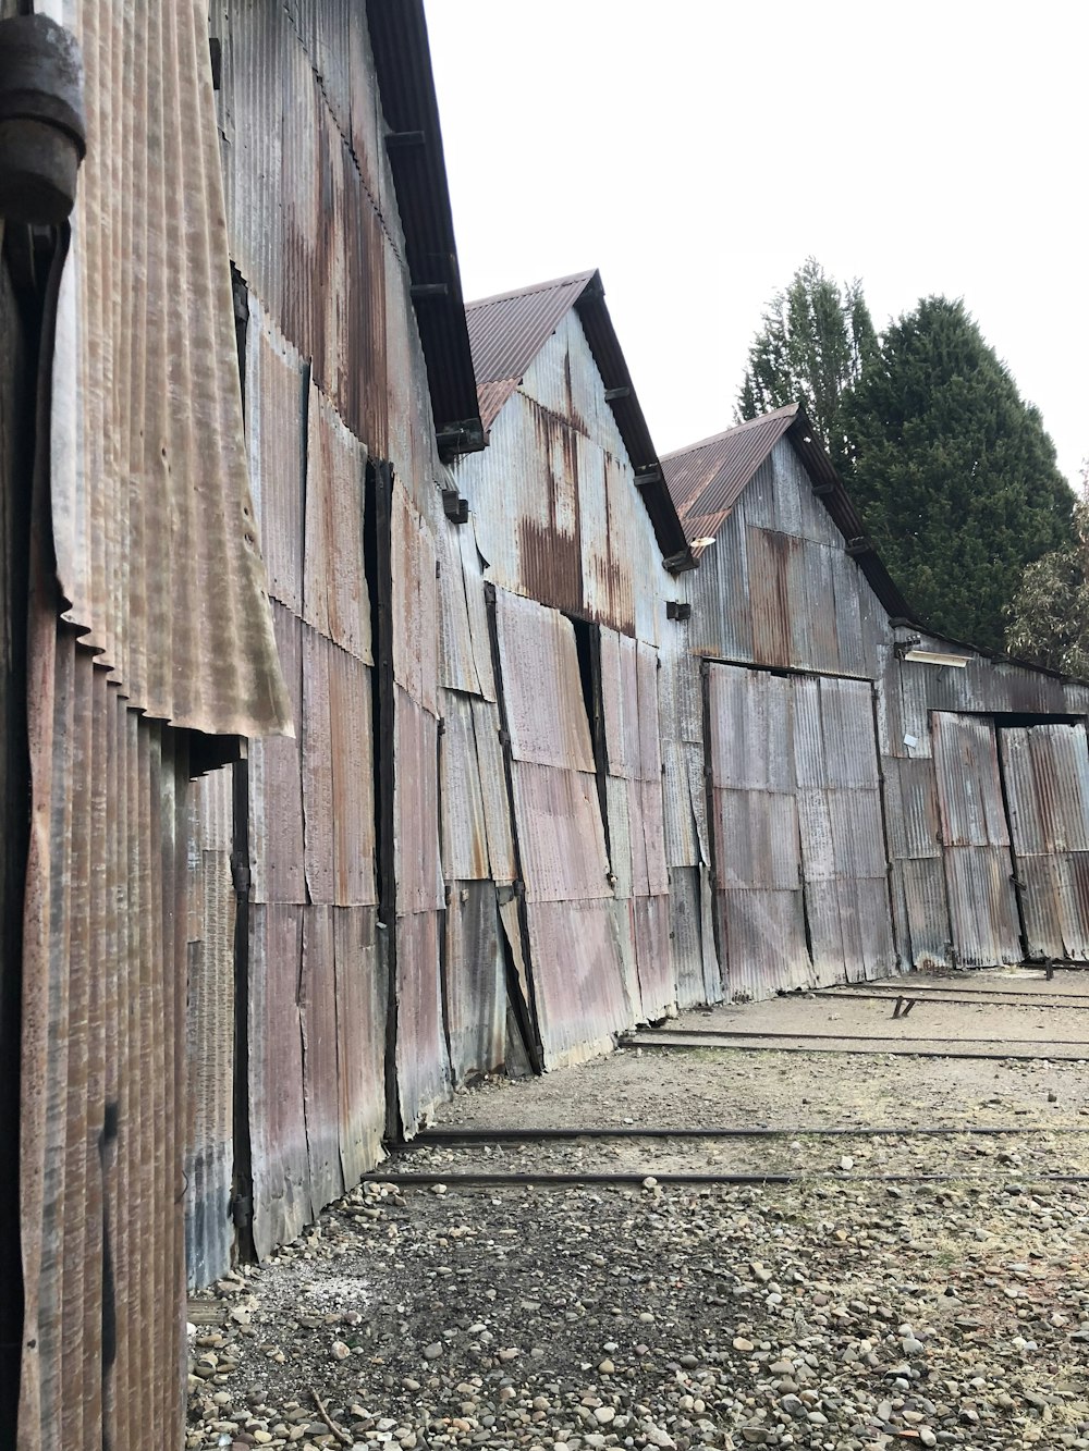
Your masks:
<svg viewBox="0 0 1089 1451"><path fill-rule="evenodd" d="M925 297L892 324L842 422L852 498L913 609L1002 650L1025 567L1074 544L1074 501L1040 412L964 305Z"/></svg>

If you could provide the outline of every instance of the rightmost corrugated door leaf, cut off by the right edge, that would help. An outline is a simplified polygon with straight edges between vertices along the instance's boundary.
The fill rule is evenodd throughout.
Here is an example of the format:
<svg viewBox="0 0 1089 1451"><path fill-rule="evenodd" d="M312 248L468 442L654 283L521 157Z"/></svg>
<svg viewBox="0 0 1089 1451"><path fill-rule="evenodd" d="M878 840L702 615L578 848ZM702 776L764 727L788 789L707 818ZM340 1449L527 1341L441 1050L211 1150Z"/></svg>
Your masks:
<svg viewBox="0 0 1089 1451"><path fill-rule="evenodd" d="M1089 961L1089 749L1085 726L999 730L1029 958Z"/></svg>

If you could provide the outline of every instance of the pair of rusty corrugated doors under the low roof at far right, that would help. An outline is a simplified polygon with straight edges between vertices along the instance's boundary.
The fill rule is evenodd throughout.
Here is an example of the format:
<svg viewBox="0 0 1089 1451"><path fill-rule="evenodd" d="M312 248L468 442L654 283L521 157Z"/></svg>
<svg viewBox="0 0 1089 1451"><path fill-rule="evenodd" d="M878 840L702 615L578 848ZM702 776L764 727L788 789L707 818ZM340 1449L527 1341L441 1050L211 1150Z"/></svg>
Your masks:
<svg viewBox="0 0 1089 1451"><path fill-rule="evenodd" d="M1089 961L1085 724L935 711L931 736L957 961Z"/></svg>

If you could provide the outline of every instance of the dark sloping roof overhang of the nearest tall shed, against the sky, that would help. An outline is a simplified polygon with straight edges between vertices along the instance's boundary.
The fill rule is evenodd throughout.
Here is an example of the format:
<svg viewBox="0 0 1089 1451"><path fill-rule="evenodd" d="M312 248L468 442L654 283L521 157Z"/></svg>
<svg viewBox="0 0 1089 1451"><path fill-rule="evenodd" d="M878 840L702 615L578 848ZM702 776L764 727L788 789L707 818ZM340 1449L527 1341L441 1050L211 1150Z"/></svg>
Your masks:
<svg viewBox="0 0 1089 1451"><path fill-rule="evenodd" d="M367 0L386 149L443 457L484 448L423 0Z"/></svg>

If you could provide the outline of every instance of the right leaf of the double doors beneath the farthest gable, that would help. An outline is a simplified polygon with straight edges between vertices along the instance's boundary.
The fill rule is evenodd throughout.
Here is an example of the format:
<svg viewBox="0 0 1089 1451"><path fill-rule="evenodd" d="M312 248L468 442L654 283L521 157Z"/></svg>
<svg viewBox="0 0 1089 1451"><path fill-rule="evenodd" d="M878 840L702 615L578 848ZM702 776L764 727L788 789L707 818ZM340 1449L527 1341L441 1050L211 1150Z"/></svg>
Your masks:
<svg viewBox="0 0 1089 1451"><path fill-rule="evenodd" d="M802 872L817 984L896 968L868 681L794 682Z"/></svg>

